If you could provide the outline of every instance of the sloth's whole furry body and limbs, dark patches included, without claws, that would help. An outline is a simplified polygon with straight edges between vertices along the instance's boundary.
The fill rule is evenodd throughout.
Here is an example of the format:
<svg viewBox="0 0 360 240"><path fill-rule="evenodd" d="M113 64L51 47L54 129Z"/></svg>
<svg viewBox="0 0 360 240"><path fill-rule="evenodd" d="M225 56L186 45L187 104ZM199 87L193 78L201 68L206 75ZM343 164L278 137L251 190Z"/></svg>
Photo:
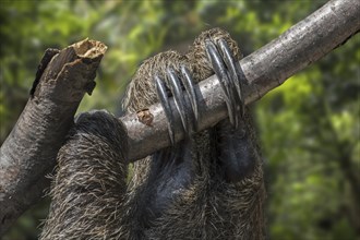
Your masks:
<svg viewBox="0 0 360 240"><path fill-rule="evenodd" d="M158 101L155 74L181 65L195 82L213 75L202 33L190 51L159 53L137 70L124 107L135 112ZM264 239L262 163L248 111L235 129L229 120L161 149L133 166L127 183L124 128L105 111L81 115L58 155L52 202L41 239Z"/></svg>

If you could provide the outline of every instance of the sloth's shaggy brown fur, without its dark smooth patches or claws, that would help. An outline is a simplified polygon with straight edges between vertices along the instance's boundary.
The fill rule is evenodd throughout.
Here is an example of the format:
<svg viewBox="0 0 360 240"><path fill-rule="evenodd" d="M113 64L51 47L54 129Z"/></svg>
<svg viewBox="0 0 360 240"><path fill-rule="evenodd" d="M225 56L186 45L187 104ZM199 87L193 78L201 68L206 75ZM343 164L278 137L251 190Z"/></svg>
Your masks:
<svg viewBox="0 0 360 240"><path fill-rule="evenodd" d="M140 67L127 92L124 107L128 112L158 101L153 76L160 74L165 79L168 67L179 71L180 64L187 65L195 82L214 74L204 46L204 39L208 38L213 41L225 38L236 58L240 59L237 44L228 33L219 28L207 31L195 39L187 55L175 51L159 53ZM171 201L160 211L160 216L153 217L152 205L146 197L142 197L153 194L148 189L154 171L151 157L134 164L133 178L125 187L127 161L121 154L125 147L118 144L119 148L112 144L121 143L121 140L113 137L116 133L109 135L108 132L113 130L106 131L103 127L94 128L108 137L93 139L93 131L88 128L92 130L89 125L95 125L99 120L92 116L88 119L76 123L73 135L59 153L50 214L41 239L264 238L265 190L259 156L250 176L239 182L229 182L212 156L217 144L213 130L196 133L183 142L191 147L190 183L171 193ZM111 116L100 118L104 122L112 122L113 119ZM115 131L117 137L121 136L121 124L112 124L115 129L120 129ZM79 131L82 128L84 132ZM245 113L245 128L252 134L253 144L256 144L249 113ZM156 187L153 188L156 190ZM148 223L142 223L144 218Z"/></svg>

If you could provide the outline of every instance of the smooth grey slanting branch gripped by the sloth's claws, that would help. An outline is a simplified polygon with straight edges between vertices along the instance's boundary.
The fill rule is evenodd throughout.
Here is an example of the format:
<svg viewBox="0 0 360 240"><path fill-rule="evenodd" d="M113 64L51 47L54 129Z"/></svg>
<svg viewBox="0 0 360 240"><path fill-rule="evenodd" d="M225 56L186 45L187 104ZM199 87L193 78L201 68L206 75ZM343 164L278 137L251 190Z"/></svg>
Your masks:
<svg viewBox="0 0 360 240"><path fill-rule="evenodd" d="M272 43L242 59L240 65L249 83L244 89L245 104L260 99L359 32L359 5L360 1L356 0L332 0ZM215 75L202 81L195 91L197 96L202 96L199 105L200 130L227 118L224 94ZM171 109L176 109L172 99ZM144 113L152 115L151 124L143 123ZM184 132L178 112L175 111L173 116L175 139L178 142L184 137ZM167 119L159 104L151 106L146 112L122 117L121 121L128 129L131 161L171 144Z"/></svg>

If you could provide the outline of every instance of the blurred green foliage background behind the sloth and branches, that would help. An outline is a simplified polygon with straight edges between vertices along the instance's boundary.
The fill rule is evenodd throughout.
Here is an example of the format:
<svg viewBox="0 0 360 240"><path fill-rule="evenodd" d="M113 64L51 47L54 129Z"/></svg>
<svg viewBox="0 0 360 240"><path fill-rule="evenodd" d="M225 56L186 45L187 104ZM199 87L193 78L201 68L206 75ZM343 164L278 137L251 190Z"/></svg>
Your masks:
<svg viewBox="0 0 360 240"><path fill-rule="evenodd" d="M97 87L80 111L118 113L131 75L152 55L185 51L202 31L220 26L247 56L324 2L0 0L0 142L27 100L46 48L86 37L105 43ZM360 238L359 47L358 34L254 106L272 239ZM25 213L4 239L36 239L48 202Z"/></svg>

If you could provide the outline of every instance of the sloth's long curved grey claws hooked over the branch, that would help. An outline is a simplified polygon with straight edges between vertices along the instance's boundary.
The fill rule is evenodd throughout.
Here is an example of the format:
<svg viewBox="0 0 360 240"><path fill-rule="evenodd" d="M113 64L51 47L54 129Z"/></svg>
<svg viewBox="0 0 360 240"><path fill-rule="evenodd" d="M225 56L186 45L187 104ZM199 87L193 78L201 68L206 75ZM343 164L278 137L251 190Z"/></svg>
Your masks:
<svg viewBox="0 0 360 240"><path fill-rule="evenodd" d="M242 117L244 111L244 100L241 84L242 77L240 74L239 62L235 60L228 44L224 39L217 43L206 40L206 53L212 63L212 68L217 75L225 100L228 108L230 123L239 127L239 118ZM157 95L164 108L165 115L168 120L168 132L171 144L175 143L175 117L173 110L177 110L183 131L185 135L192 134L197 130L197 122L200 121L199 101L200 96L194 91L194 81L190 71L182 65L180 74L177 74L171 68L167 70L166 83L158 75L154 77ZM182 88L185 92L182 92ZM167 89L170 91L175 100L176 109L171 109ZM185 104L185 98L189 99L190 105ZM192 118L190 117L192 116Z"/></svg>

